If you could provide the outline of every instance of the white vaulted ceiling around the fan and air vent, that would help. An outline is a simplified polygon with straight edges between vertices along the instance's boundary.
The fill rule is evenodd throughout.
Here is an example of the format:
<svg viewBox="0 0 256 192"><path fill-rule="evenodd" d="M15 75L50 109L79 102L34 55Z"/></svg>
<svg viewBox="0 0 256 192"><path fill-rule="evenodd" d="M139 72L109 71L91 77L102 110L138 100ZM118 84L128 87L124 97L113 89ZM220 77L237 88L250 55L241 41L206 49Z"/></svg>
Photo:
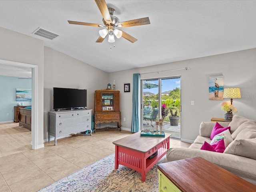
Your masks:
<svg viewBox="0 0 256 192"><path fill-rule="evenodd" d="M254 0L106 0L120 22L149 17L149 25L122 28L137 42L105 39L94 0L1 0L0 27L44 40L44 45L106 72L114 72L256 48ZM38 27L54 40L32 34ZM1 46L1 45L0 45Z"/></svg>

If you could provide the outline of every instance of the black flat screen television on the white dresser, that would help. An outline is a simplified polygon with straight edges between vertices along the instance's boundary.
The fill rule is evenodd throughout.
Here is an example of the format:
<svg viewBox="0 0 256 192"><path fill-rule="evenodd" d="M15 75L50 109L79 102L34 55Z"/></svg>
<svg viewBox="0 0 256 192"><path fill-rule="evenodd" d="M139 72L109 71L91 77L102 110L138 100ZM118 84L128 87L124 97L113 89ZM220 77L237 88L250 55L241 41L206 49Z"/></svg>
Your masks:
<svg viewBox="0 0 256 192"><path fill-rule="evenodd" d="M53 110L86 108L87 90L53 88Z"/></svg>

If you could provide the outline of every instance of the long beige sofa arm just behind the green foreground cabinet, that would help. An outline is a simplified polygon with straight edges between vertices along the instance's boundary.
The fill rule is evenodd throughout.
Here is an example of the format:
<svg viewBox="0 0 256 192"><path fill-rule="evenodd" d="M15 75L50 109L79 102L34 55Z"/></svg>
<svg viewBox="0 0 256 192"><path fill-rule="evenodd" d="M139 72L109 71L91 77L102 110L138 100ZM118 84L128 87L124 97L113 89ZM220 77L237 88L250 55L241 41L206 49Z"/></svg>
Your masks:
<svg viewBox="0 0 256 192"><path fill-rule="evenodd" d="M256 160L232 154L191 148L169 148L163 162L194 157L202 157L242 178L256 178Z"/></svg>

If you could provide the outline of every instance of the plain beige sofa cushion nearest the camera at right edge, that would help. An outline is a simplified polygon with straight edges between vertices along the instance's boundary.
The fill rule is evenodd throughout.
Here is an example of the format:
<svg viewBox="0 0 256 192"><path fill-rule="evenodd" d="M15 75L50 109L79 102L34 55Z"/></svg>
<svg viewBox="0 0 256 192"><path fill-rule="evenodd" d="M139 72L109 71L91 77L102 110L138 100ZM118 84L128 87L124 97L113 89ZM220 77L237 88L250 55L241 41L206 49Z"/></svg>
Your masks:
<svg viewBox="0 0 256 192"><path fill-rule="evenodd" d="M256 160L256 138L238 139L230 143L224 153L239 155Z"/></svg>

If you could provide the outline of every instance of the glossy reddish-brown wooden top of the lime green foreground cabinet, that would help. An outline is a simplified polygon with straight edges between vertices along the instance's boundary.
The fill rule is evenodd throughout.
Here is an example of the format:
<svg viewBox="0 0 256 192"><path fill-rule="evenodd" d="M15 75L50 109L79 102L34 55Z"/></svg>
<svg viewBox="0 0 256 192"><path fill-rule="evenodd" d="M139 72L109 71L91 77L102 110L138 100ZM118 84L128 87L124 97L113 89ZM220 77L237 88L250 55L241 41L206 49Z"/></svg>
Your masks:
<svg viewBox="0 0 256 192"><path fill-rule="evenodd" d="M162 163L158 169L182 192L256 191L256 185L201 157Z"/></svg>

